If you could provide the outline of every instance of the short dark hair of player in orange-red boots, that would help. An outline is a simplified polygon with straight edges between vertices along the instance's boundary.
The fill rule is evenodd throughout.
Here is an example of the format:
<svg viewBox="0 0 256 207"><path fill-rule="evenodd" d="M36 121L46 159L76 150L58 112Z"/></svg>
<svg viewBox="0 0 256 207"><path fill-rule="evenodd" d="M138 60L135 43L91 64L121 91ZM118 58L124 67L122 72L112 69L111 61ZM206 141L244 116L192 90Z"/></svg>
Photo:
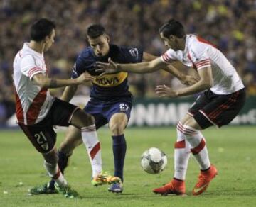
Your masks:
<svg viewBox="0 0 256 207"><path fill-rule="evenodd" d="M165 38L169 38L170 35L175 35L178 38L183 38L186 33L182 23L171 18L159 28L159 33L163 33Z"/></svg>

